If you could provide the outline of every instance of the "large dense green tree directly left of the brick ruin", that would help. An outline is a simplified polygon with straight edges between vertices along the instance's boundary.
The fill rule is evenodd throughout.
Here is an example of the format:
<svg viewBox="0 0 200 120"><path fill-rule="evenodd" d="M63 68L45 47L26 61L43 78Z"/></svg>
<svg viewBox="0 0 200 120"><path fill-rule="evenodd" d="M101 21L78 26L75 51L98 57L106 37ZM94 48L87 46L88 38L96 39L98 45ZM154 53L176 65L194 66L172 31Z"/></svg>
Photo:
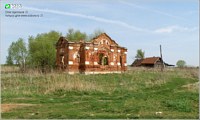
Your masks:
<svg viewBox="0 0 200 120"><path fill-rule="evenodd" d="M50 31L29 37L29 62L31 67L40 68L43 72L55 67L55 44L61 33Z"/></svg>

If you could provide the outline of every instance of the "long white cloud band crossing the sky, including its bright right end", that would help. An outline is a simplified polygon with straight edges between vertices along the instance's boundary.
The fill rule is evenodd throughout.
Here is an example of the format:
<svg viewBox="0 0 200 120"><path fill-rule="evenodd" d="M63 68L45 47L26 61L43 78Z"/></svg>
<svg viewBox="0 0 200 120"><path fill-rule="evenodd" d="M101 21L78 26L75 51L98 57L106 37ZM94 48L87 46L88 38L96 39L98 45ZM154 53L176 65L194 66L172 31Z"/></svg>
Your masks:
<svg viewBox="0 0 200 120"><path fill-rule="evenodd" d="M141 6L138 6L138 7L141 7ZM143 8L143 7L141 7L141 8ZM187 27L181 27L181 26L178 26L178 25L167 26L167 27L158 28L158 29L155 29L155 30L149 30L149 29L133 26L129 23L126 23L126 22L123 22L123 21L120 21L120 20L105 19L105 18L102 18L102 17L85 15L85 14L80 14L80 13L58 11L58 10L52 10L52 9L39 9L39 8L33 8L33 7L24 7L24 9L32 10L32 11L46 12L46 13L51 13L51 14L64 15L64 16L80 17L80 18L84 18L84 19L97 21L97 22L115 24L115 25L118 25L118 26L121 26L121 27L132 29L134 31L146 32L146 33L173 33L173 32L177 32L177 31L178 32L183 32L183 31L190 32L190 31L198 30L197 27L187 28Z"/></svg>

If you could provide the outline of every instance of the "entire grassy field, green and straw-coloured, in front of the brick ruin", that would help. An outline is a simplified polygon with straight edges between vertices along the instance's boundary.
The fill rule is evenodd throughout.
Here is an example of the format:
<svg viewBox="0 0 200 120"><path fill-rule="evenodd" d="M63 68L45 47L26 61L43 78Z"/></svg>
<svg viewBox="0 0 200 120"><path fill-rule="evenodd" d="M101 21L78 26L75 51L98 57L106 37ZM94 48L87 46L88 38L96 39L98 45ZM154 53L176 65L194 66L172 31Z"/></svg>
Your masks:
<svg viewBox="0 0 200 120"><path fill-rule="evenodd" d="M2 118L199 118L198 69L122 74L17 73L1 68Z"/></svg>

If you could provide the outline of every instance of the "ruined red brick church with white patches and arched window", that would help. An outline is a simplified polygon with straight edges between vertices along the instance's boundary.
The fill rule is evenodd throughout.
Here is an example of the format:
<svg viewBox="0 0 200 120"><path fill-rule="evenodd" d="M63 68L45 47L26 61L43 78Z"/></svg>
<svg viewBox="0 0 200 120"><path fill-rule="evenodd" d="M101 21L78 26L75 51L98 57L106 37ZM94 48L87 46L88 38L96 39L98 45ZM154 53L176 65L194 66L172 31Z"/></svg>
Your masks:
<svg viewBox="0 0 200 120"><path fill-rule="evenodd" d="M69 42L60 37L56 44L56 66L68 73L117 73L127 70L127 49L106 33L91 42Z"/></svg>

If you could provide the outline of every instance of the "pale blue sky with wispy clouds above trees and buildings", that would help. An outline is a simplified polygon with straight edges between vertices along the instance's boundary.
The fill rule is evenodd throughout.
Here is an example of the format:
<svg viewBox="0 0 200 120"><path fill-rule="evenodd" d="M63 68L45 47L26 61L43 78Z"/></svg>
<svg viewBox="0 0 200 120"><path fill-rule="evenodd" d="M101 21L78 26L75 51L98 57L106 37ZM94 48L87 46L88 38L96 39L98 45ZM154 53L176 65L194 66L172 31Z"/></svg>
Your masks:
<svg viewBox="0 0 200 120"><path fill-rule="evenodd" d="M22 4L21 10L43 14L41 18L5 17L6 3ZM1 0L1 63L9 45L19 37L56 30L66 35L69 28L91 34L105 31L128 49L131 64L137 49L145 57L159 56L176 64L199 65L198 0Z"/></svg>

